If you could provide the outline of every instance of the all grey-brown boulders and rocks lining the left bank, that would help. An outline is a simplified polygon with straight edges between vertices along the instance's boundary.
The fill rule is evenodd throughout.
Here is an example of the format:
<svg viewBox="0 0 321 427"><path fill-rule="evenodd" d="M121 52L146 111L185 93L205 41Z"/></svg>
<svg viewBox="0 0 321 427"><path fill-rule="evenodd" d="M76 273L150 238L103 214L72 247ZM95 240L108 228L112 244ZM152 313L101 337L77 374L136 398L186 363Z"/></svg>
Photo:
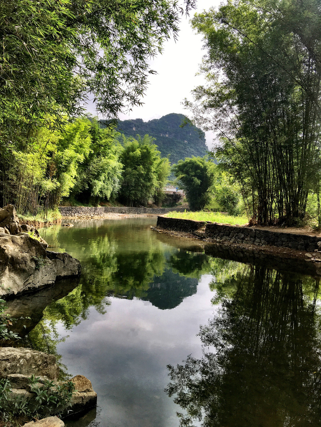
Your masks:
<svg viewBox="0 0 321 427"><path fill-rule="evenodd" d="M32 330L34 322L41 320L48 300L68 293L79 280L79 261L67 253L51 252L47 248L48 244L33 225L20 223L14 206L0 209L0 296L11 298L9 307L5 307L5 316L18 316L17 324L8 321L7 325L6 317L1 316L0 323L5 328L11 325L11 332L19 336ZM68 283L62 281L66 278ZM55 288L58 280L63 290L59 286ZM44 295L38 292L42 301L36 296L26 297L41 288L48 289L49 285L50 292ZM24 295L24 298L17 298L17 295ZM32 316L31 320L34 312L36 319ZM6 344L16 342L11 339ZM0 426L21 425L34 416L43 418L59 414L63 418L69 411L75 415L95 407L97 394L86 377L76 375L71 381L59 381L58 377L59 367L54 355L30 348L1 347L0 413L6 414L6 420L0 420ZM31 425L62 427L64 423L57 417L49 417L27 424Z"/></svg>

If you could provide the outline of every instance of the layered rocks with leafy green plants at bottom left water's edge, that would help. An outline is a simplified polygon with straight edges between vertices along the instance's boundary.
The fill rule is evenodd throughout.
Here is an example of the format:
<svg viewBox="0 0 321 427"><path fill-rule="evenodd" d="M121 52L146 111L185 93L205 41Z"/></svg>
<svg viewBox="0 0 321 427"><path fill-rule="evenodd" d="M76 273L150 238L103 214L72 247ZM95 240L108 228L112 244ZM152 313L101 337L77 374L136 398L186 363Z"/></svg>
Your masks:
<svg viewBox="0 0 321 427"><path fill-rule="evenodd" d="M56 406L64 418L70 412L75 416L97 404L97 393L83 375L76 375L69 381L58 380L59 367L53 354L31 348L0 348L0 377L9 383L10 400L18 402L23 398L30 407L38 408L39 414L50 415L50 407L55 410ZM40 394L42 401L37 399ZM51 396L48 402L47 396Z"/></svg>

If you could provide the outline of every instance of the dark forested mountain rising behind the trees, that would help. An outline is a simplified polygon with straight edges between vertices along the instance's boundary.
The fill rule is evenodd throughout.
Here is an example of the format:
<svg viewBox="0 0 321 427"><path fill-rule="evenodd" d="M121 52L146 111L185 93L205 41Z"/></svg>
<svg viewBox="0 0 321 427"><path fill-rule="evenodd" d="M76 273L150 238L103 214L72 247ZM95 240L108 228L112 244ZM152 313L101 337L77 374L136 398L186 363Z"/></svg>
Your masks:
<svg viewBox="0 0 321 427"><path fill-rule="evenodd" d="M172 164L185 157L204 156L208 152L205 144L205 133L193 125L180 128L185 119L183 114L167 114L160 119L144 122L142 119L123 120L118 122L117 130L126 136L143 137L148 134L156 138L162 157L169 156Z"/></svg>

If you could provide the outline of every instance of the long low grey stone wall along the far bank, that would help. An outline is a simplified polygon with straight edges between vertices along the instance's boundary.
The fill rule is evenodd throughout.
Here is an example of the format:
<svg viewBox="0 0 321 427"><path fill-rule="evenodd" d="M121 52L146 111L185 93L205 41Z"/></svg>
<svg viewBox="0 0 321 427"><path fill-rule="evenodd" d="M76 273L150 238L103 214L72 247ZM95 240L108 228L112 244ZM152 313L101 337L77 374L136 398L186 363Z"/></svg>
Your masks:
<svg viewBox="0 0 321 427"><path fill-rule="evenodd" d="M94 208L88 208L85 206L60 206L59 211L62 216L104 215L105 213L133 213L134 215L154 213L163 215L164 213L171 211L184 212L185 208L129 208L125 206L98 206Z"/></svg>

